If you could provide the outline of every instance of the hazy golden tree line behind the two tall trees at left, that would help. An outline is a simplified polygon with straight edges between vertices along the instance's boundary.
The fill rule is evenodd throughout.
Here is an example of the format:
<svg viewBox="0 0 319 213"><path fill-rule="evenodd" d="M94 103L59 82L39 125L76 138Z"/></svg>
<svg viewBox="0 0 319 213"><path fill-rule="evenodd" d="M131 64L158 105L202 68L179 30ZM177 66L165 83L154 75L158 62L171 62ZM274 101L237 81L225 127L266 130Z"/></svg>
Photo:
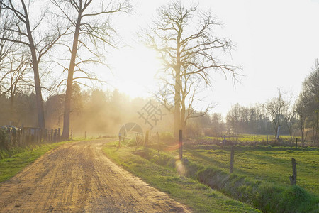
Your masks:
<svg viewBox="0 0 319 213"><path fill-rule="evenodd" d="M35 94L21 92L16 94L12 107L11 97L0 97L0 126L13 125L37 126ZM101 134L116 135L125 122L143 124L138 118L147 99L130 99L127 95L114 91L88 89L81 91L79 84L74 84L70 108L70 129L75 136L84 136L86 131L91 136ZM44 102L45 122L48 129L62 128L65 94L52 94Z"/></svg>

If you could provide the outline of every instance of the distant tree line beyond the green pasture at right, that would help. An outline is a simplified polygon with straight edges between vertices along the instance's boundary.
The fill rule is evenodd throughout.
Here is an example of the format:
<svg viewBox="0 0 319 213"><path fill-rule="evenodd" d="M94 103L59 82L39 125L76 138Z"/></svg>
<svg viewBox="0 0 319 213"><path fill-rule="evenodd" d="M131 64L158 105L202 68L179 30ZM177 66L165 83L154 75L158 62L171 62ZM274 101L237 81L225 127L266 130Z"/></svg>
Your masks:
<svg viewBox="0 0 319 213"><path fill-rule="evenodd" d="M223 136L224 134L240 133L288 135L301 138L302 143L313 141L318 143L319 121L319 63L303 81L298 98L281 92L263 104L251 107L234 104L225 119L221 114L206 114L195 119L194 135L203 132L206 136ZM196 127L197 126L197 127ZM196 128L195 128L196 127ZM197 131L199 132L196 132ZM278 132L279 131L279 132Z"/></svg>

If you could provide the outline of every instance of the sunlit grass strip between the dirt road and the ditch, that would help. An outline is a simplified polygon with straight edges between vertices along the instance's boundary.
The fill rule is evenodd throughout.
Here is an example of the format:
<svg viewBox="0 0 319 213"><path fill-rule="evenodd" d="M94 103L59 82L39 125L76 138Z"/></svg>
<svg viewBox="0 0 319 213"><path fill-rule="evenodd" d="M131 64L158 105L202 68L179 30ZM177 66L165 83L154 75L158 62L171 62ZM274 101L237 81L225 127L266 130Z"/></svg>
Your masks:
<svg viewBox="0 0 319 213"><path fill-rule="evenodd" d="M106 143L104 153L133 175L166 192L194 212L259 212L247 204L226 197L191 178L178 175L174 169L152 163L132 152L135 148L117 148L117 142Z"/></svg>

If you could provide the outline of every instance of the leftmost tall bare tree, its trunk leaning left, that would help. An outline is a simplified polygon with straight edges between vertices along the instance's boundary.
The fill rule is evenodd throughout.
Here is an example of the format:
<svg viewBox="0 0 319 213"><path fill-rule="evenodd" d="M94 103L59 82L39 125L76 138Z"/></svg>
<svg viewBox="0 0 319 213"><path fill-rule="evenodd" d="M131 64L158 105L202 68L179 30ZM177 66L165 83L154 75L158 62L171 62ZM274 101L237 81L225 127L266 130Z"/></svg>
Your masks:
<svg viewBox="0 0 319 213"><path fill-rule="evenodd" d="M13 24L10 26L1 26L1 31L8 31L9 38L1 37L0 40L6 40L11 43L25 45L30 51L30 64L33 68L36 105L38 109L38 126L45 129L45 118L43 110L43 97L41 92L39 64L43 56L48 53L52 46L60 39L60 28L44 29L47 10L40 11L40 17L35 18L39 11L40 2L31 0L0 0L0 7L6 11L6 16L13 18Z"/></svg>

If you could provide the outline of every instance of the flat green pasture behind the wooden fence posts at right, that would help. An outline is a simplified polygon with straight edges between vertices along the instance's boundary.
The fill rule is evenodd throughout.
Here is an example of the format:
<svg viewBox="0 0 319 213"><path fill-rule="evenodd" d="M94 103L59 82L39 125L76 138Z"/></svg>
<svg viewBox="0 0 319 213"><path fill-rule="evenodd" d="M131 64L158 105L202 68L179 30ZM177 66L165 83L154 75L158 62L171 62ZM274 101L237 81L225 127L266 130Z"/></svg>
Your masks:
<svg viewBox="0 0 319 213"><path fill-rule="evenodd" d="M230 148L192 146L184 149L184 157L199 165L214 165L225 171L230 167ZM235 146L234 172L289 185L291 158L295 158L297 163L297 185L319 195L319 148Z"/></svg>

